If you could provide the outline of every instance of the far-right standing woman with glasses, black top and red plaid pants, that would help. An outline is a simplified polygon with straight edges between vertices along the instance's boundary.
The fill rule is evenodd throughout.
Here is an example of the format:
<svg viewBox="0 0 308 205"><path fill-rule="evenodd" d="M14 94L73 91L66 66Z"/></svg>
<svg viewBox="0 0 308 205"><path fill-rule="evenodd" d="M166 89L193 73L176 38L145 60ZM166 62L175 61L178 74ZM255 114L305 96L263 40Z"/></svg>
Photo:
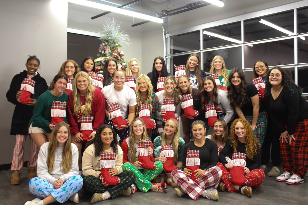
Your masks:
<svg viewBox="0 0 308 205"><path fill-rule="evenodd" d="M283 173L277 181L304 182L308 168L308 102L281 67L266 75L265 105L278 127Z"/></svg>

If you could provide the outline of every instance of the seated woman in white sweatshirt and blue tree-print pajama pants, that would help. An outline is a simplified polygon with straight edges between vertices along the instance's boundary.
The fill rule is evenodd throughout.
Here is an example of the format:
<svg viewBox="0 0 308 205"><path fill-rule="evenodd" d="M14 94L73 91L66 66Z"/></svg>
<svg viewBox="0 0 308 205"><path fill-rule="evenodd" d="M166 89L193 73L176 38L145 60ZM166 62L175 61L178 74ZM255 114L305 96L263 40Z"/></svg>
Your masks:
<svg viewBox="0 0 308 205"><path fill-rule="evenodd" d="M71 143L67 124L58 123L50 142L44 143L39 151L38 177L29 181L30 192L38 198L25 205L63 203L68 199L79 203L77 192L82 188L83 179L78 171L78 149Z"/></svg>

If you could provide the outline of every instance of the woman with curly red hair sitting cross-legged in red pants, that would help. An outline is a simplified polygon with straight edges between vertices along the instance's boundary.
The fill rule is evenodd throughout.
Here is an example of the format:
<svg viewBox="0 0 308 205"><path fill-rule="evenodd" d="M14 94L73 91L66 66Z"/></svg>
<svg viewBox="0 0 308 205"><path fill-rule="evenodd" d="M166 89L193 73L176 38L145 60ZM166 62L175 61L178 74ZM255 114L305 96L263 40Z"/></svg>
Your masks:
<svg viewBox="0 0 308 205"><path fill-rule="evenodd" d="M244 165L244 176L232 175L230 178L230 172L235 167L234 163L228 163L226 156L229 153L240 153L240 155L246 154ZM234 159L234 158L233 158ZM250 124L245 119L235 119L231 125L229 140L225 144L225 147L221 150L218 156L220 163L217 167L222 170L220 183L220 191L229 192L240 191L243 195L252 197L252 189L261 186L264 181L264 172L259 169L261 162L261 146L257 139L254 138L253 131ZM241 185L235 184L235 178L242 177L243 183Z"/></svg>

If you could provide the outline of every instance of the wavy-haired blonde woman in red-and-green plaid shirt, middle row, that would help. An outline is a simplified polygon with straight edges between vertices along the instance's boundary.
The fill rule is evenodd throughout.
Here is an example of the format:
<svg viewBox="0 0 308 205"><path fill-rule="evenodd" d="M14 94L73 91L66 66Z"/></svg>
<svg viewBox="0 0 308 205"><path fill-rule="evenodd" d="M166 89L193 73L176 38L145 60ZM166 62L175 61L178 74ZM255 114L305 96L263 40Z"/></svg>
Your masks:
<svg viewBox="0 0 308 205"><path fill-rule="evenodd" d="M140 75L137 78L136 82L136 117L139 117L139 107L143 103L150 104L150 119L154 120L157 114L157 107L158 107L158 97L153 92L153 86L151 84L151 80L147 75ZM153 142L154 138L152 139L152 129L147 130L148 136Z"/></svg>

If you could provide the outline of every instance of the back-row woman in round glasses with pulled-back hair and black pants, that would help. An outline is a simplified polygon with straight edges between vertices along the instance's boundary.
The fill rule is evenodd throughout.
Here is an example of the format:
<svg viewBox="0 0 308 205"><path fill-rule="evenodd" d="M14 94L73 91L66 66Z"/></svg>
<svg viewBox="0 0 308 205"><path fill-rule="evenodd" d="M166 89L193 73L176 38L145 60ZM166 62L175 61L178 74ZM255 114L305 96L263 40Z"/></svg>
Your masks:
<svg viewBox="0 0 308 205"><path fill-rule="evenodd" d="M253 65L253 78L261 77L263 82L265 82L265 76L267 74L268 65L266 61L258 60ZM259 94L260 96L260 94ZM260 101L264 106L265 102ZM266 108L265 108L266 109ZM267 111L268 112L268 111ZM280 175L279 166L281 164L280 149L279 149L279 136L280 133L277 132L277 127L270 116L268 116L267 130L265 134L265 139L262 145L262 156L261 156L261 166L260 169L267 172L267 163L271 159L273 162L272 169L267 173L268 176L278 176Z"/></svg>

